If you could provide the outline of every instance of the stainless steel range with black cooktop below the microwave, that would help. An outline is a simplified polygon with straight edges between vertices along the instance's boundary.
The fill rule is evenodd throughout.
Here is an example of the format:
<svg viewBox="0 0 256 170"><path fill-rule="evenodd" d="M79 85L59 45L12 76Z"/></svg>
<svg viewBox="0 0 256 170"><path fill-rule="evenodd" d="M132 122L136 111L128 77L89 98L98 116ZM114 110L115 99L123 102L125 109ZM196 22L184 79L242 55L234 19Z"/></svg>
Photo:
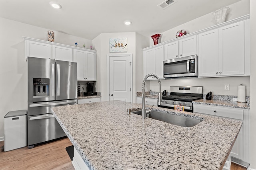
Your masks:
<svg viewBox="0 0 256 170"><path fill-rule="evenodd" d="M203 98L203 86L170 86L170 95L162 96L162 104L158 107L174 109L184 107L184 111L193 112L192 101Z"/></svg>

